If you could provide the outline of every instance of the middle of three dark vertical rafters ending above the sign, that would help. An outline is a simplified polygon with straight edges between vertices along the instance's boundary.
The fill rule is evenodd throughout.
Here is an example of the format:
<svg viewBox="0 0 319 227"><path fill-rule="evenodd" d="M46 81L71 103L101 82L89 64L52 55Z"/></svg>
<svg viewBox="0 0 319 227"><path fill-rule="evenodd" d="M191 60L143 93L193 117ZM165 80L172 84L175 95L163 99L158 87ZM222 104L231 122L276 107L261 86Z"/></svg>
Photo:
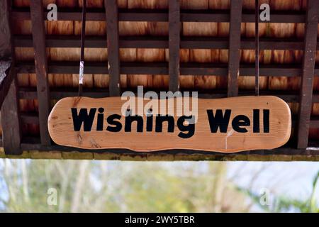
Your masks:
<svg viewBox="0 0 319 227"><path fill-rule="evenodd" d="M169 1L169 90L179 90L180 11L179 0Z"/></svg>

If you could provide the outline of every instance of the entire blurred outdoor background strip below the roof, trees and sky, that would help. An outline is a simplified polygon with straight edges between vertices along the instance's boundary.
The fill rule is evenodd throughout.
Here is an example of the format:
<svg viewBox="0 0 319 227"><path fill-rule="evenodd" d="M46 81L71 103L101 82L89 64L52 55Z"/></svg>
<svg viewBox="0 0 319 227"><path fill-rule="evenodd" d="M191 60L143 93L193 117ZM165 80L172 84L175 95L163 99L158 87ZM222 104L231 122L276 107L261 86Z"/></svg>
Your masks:
<svg viewBox="0 0 319 227"><path fill-rule="evenodd" d="M318 162L0 160L0 212L319 212Z"/></svg>

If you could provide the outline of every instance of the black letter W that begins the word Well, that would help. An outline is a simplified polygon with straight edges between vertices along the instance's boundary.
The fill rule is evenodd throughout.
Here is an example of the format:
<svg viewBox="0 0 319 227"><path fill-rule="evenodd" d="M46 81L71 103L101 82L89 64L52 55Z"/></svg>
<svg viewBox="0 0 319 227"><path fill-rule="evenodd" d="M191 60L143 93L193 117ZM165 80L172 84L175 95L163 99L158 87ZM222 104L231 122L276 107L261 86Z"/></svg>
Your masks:
<svg viewBox="0 0 319 227"><path fill-rule="evenodd" d="M213 110L208 109L207 115L208 115L208 121L209 121L209 127L211 128L211 133L216 133L218 128L220 128L220 133L227 133L227 128L229 124L230 109L225 110L225 115L223 116L223 111L221 109L216 110L216 115L214 116Z"/></svg>

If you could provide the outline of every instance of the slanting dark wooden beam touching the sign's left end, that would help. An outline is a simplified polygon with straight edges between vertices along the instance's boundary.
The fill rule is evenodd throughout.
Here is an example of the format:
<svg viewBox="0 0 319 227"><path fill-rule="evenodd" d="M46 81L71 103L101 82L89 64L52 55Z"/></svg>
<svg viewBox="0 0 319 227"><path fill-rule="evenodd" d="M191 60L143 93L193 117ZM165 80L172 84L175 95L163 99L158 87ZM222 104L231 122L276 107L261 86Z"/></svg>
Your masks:
<svg viewBox="0 0 319 227"><path fill-rule="evenodd" d="M50 91L47 79L47 54L45 50L45 23L42 1L31 0L30 11L33 48L35 51L35 73L37 75L40 138L43 145L50 145L51 139L47 130L47 117L50 114Z"/></svg>

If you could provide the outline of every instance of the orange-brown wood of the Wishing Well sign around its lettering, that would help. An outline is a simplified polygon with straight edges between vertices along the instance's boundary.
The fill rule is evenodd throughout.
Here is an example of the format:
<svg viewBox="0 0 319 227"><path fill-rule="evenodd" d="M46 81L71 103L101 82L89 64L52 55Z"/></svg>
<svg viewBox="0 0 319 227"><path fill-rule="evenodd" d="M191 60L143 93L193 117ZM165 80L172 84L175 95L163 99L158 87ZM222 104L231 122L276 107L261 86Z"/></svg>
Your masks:
<svg viewBox="0 0 319 227"><path fill-rule="evenodd" d="M133 98L143 101L142 98ZM180 99L180 98L177 98ZM175 101L177 101L175 99ZM291 133L291 112L289 106L275 96L241 96L227 99L198 99L198 121L195 133L189 138L180 138L177 126L176 111L174 114L174 132L167 133L167 122L163 124L161 133L155 132L155 117L152 131L146 131L146 116L143 116L143 132L136 131L136 122L132 131L125 132L125 116L121 116L122 129L114 133L106 131L109 124L106 118L112 114L121 115L122 105L126 100L121 97L91 99L88 97L68 97L57 102L48 119L48 128L52 140L59 145L86 149L127 148L135 151L153 151L167 149L207 150L222 153L233 153L244 150L273 149L284 145ZM158 100L157 100L158 101ZM192 99L191 99L192 101ZM191 102L190 101L190 102ZM144 105L148 100L144 99ZM176 105L175 105L176 106ZM99 109L103 107L103 129L96 131L97 116L94 117L91 131L74 131L72 108ZM228 129L220 133L211 133L207 110L231 110ZM253 132L253 110L260 110L259 133ZM269 133L264 132L263 110L269 110ZM97 115L98 111L96 111ZM232 121L237 115L245 115L250 119L250 126L245 126L247 133L234 131Z"/></svg>

